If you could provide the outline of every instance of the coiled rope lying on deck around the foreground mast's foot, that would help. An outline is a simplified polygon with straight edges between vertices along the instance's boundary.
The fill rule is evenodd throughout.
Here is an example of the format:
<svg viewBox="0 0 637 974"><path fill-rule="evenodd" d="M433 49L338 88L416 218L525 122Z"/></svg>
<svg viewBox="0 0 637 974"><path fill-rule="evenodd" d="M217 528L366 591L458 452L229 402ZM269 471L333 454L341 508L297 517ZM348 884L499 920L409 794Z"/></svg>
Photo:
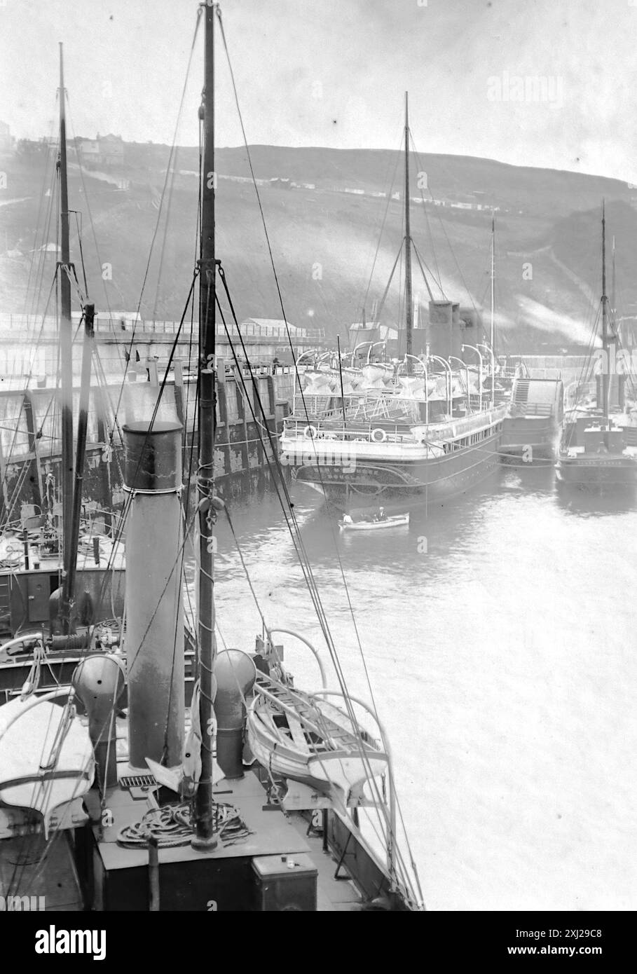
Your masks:
<svg viewBox="0 0 637 974"><path fill-rule="evenodd" d="M251 835L234 805L213 805L212 817L214 831L224 845L244 842ZM181 805L150 808L138 822L120 829L117 843L125 848L138 848L147 846L153 838L160 848L171 848L188 845L192 837L191 805L182 802Z"/></svg>

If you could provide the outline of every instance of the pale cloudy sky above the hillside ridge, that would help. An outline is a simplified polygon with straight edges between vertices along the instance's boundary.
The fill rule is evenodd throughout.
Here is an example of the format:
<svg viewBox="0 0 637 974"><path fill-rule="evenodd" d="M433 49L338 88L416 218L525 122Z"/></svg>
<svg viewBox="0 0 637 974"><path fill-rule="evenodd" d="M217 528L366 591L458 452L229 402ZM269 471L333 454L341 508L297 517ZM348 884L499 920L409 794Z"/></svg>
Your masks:
<svg viewBox="0 0 637 974"><path fill-rule="evenodd" d="M637 183L637 0L225 0L250 143L397 148ZM0 0L0 120L170 143L197 0ZM197 142L203 28L177 133ZM242 143L221 46L217 144Z"/></svg>

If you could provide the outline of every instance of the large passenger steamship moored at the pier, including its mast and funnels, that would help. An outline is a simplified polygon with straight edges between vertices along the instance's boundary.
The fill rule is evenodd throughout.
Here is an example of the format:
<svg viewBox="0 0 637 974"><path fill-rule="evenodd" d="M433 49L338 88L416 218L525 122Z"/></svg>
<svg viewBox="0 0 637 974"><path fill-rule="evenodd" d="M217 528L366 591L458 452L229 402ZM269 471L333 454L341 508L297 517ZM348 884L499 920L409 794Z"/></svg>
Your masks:
<svg viewBox="0 0 637 974"><path fill-rule="evenodd" d="M348 510L404 509L407 502L435 504L463 493L497 467L506 418L495 394L493 325L490 347L477 343L478 313L444 295L434 300L425 279L429 317L425 327L414 327L406 96L404 135L406 318L396 334L405 336L405 355L393 364L369 360L374 346L387 345L376 339L384 328L377 324L362 368L344 371L339 353L337 366L298 377L302 387L281 434L281 463L292 477ZM420 257L418 263L425 277ZM477 357L477 367L467 364L466 352ZM486 393L483 352L490 361Z"/></svg>

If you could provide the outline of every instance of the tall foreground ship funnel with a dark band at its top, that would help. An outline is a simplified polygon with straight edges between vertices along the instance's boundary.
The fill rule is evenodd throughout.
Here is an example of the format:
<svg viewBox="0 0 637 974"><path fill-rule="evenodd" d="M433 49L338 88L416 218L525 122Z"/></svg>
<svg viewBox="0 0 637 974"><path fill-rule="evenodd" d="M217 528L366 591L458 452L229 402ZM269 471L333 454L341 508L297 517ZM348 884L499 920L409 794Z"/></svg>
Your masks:
<svg viewBox="0 0 637 974"><path fill-rule="evenodd" d="M131 496L126 539L126 654L129 753L167 767L181 761L184 732L184 636L181 581L181 426L123 428L125 490Z"/></svg>

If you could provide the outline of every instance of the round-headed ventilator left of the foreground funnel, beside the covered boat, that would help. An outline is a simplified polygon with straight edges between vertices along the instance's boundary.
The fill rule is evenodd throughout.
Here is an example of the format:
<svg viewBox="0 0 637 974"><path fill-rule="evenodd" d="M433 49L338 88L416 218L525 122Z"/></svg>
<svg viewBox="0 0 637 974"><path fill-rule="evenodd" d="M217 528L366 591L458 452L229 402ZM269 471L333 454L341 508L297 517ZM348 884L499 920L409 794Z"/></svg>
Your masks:
<svg viewBox="0 0 637 974"><path fill-rule="evenodd" d="M115 714L125 683L124 660L103 653L83 659L71 680L89 717L96 780L102 792L117 784Z"/></svg>

